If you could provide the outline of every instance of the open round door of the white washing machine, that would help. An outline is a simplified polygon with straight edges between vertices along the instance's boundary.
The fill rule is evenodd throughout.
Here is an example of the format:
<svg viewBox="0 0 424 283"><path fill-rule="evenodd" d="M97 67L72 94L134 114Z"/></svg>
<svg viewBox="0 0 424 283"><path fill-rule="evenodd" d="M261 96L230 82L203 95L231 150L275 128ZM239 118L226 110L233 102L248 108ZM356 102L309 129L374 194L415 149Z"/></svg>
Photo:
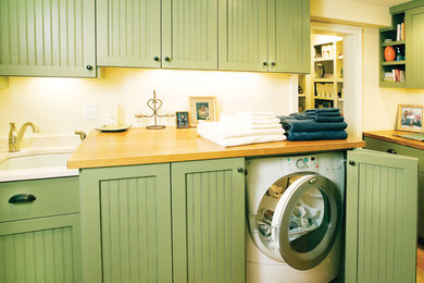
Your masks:
<svg viewBox="0 0 424 283"><path fill-rule="evenodd" d="M294 182L274 211L272 231L284 260L298 270L322 262L341 224L341 198L328 179L308 174Z"/></svg>

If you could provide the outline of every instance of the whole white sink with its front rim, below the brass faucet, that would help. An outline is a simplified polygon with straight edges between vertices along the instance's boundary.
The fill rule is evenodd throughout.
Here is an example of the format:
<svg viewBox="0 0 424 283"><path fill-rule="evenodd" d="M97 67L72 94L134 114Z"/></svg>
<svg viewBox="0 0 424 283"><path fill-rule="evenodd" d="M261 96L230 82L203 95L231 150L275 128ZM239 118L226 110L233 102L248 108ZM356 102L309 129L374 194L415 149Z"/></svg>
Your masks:
<svg viewBox="0 0 424 283"><path fill-rule="evenodd" d="M0 155L0 182L78 175L66 161L73 150L22 150Z"/></svg>

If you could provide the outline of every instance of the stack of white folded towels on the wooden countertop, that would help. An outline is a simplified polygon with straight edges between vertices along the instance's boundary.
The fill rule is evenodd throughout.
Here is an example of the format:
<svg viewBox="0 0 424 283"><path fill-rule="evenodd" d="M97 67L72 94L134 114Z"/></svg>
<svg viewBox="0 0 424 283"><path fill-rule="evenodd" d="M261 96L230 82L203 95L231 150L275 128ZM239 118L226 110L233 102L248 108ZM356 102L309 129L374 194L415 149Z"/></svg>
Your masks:
<svg viewBox="0 0 424 283"><path fill-rule="evenodd" d="M223 147L285 140L279 119L270 112L222 113L220 122L200 121L197 133Z"/></svg>

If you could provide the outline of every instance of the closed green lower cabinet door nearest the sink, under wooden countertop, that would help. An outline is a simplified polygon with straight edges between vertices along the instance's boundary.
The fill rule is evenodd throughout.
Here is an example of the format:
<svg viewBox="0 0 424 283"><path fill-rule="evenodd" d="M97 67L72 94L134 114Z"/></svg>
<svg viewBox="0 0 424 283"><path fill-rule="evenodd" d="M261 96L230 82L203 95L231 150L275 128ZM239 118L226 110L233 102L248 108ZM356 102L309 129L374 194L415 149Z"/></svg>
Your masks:
<svg viewBox="0 0 424 283"><path fill-rule="evenodd" d="M80 171L84 282L172 282L170 164Z"/></svg>

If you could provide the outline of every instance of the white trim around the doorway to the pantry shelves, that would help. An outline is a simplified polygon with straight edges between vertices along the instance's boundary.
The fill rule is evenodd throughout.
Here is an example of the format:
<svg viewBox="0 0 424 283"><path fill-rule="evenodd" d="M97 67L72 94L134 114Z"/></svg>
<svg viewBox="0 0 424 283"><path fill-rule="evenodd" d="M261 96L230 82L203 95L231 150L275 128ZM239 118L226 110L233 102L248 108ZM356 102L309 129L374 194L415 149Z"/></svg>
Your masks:
<svg viewBox="0 0 424 283"><path fill-rule="evenodd" d="M344 37L344 114L349 136L362 138L362 27L312 22L311 34Z"/></svg>

